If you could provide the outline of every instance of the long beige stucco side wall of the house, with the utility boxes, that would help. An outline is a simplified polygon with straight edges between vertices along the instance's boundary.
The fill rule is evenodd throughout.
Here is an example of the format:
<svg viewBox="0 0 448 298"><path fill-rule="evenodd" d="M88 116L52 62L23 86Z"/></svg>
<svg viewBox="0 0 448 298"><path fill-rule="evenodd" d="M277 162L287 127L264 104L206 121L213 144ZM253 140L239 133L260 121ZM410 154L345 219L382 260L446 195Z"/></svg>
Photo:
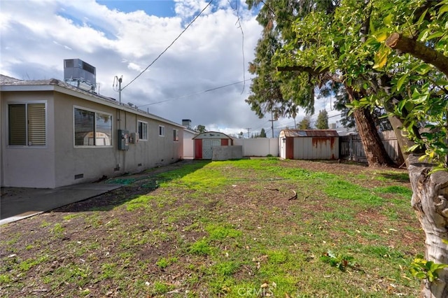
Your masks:
<svg viewBox="0 0 448 298"><path fill-rule="evenodd" d="M112 115L112 146L80 148L73 145L73 109L85 108ZM143 171L154 166L176 162L182 158L182 142L173 140L174 127L119 108L104 106L92 101L57 94L56 176L57 186L113 177L123 173ZM148 122L148 141L129 143L128 150L118 150L118 129L137 132L137 121ZM159 125L165 126L165 137L158 136ZM75 179L76 175L83 178Z"/></svg>

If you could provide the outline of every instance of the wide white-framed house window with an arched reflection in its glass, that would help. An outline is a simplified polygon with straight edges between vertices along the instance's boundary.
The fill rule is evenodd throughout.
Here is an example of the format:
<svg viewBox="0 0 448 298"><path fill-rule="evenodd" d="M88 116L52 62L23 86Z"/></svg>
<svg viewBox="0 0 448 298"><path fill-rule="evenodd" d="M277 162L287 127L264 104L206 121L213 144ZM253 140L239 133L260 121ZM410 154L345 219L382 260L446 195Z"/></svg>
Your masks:
<svg viewBox="0 0 448 298"><path fill-rule="evenodd" d="M112 115L74 108L75 146L112 146Z"/></svg>

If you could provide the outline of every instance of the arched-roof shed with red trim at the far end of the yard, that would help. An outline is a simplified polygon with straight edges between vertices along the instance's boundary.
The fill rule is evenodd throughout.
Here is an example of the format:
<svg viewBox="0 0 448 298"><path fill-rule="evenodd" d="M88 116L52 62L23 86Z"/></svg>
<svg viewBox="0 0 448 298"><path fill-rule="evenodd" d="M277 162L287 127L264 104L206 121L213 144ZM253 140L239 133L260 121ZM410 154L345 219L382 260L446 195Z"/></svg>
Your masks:
<svg viewBox="0 0 448 298"><path fill-rule="evenodd" d="M233 146L233 139L222 132L203 132L193 140L195 159L211 159L214 146Z"/></svg>

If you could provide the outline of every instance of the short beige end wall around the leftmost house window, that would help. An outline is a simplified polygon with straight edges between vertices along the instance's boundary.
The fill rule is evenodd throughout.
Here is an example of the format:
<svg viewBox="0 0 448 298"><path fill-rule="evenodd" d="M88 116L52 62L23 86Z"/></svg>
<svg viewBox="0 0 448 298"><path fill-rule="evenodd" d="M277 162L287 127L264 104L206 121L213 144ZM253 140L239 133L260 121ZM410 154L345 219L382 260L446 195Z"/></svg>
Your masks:
<svg viewBox="0 0 448 298"><path fill-rule="evenodd" d="M54 109L52 92L1 92L1 185L10 187L53 188L55 182ZM47 145L8 146L8 103L45 101Z"/></svg>

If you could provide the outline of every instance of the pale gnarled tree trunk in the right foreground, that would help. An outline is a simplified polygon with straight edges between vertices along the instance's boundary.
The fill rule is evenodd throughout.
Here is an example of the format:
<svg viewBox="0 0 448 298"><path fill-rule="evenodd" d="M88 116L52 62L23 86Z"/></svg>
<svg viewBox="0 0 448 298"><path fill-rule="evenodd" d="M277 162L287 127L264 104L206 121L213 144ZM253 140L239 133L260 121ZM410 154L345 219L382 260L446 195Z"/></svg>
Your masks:
<svg viewBox="0 0 448 298"><path fill-rule="evenodd" d="M409 155L409 179L412 185L412 207L425 232L425 259L448 264L448 172L429 174L433 164L419 162ZM423 280L421 297L448 297L448 268L437 271L433 282Z"/></svg>

